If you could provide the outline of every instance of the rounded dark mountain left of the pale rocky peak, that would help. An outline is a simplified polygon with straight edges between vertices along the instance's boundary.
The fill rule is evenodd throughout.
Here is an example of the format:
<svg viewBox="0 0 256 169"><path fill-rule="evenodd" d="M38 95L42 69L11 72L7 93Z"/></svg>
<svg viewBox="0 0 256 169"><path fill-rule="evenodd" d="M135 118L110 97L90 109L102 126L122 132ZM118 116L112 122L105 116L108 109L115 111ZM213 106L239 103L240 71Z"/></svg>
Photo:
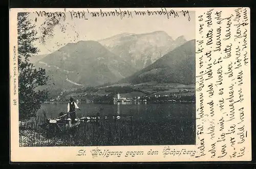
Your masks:
<svg viewBox="0 0 256 169"><path fill-rule="evenodd" d="M97 41L68 43L40 59L37 65L51 70L52 74L61 71L65 74L62 79L87 86L113 83L136 72L133 66Z"/></svg>

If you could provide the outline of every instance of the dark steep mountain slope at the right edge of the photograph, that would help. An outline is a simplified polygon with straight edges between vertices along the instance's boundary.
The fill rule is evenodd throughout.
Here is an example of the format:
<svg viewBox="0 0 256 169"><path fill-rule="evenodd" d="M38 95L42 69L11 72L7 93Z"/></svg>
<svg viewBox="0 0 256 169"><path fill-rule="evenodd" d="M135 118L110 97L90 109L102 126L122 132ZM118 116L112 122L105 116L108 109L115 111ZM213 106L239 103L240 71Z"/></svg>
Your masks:
<svg viewBox="0 0 256 169"><path fill-rule="evenodd" d="M156 81L158 83L195 84L195 74L195 40L190 40L131 77L122 79L120 83L139 84Z"/></svg>

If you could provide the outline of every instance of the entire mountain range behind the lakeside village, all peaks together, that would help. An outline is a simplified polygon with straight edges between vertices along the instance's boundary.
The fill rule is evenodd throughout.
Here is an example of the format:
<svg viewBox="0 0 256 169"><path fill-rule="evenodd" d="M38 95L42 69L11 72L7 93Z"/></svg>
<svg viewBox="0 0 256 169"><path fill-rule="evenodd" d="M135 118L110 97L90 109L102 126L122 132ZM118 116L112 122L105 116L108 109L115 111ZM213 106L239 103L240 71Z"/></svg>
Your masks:
<svg viewBox="0 0 256 169"><path fill-rule="evenodd" d="M51 90L113 83L195 83L195 40L173 40L163 31L119 34L99 41L68 43L34 57Z"/></svg>

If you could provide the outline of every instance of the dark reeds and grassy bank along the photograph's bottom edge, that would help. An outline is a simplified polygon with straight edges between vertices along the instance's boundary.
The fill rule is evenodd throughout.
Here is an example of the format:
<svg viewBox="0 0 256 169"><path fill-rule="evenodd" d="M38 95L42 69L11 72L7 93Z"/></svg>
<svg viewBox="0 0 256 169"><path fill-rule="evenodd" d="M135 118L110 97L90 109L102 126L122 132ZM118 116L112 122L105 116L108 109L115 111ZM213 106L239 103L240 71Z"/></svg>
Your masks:
<svg viewBox="0 0 256 169"><path fill-rule="evenodd" d="M19 129L20 147L49 146L132 146L152 144L194 144L195 119L177 117L164 120L109 119L83 122L72 132L48 137L41 129Z"/></svg>

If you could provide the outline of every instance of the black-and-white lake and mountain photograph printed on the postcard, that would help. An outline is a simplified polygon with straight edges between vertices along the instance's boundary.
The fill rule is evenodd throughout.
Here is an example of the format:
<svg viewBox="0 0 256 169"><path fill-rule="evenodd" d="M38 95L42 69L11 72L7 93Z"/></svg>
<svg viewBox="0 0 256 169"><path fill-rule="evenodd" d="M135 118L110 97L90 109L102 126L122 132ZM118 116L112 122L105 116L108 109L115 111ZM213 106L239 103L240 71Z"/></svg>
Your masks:
<svg viewBox="0 0 256 169"><path fill-rule="evenodd" d="M196 20L182 12L19 12L19 147L196 144Z"/></svg>

